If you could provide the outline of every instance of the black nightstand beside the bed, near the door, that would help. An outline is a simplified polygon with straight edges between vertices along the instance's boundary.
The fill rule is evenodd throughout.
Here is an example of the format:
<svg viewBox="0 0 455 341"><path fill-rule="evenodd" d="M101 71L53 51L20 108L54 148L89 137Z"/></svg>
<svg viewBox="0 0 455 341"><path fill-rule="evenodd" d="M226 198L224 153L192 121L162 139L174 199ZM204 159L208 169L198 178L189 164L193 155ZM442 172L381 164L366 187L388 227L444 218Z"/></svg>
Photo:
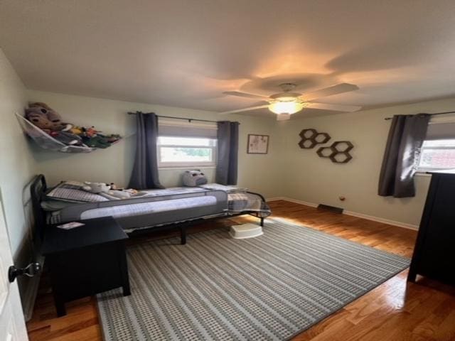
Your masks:
<svg viewBox="0 0 455 341"><path fill-rule="evenodd" d="M41 253L50 271L57 315L65 302L122 286L130 294L125 254L127 234L112 217L81 220L85 225L45 229Z"/></svg>

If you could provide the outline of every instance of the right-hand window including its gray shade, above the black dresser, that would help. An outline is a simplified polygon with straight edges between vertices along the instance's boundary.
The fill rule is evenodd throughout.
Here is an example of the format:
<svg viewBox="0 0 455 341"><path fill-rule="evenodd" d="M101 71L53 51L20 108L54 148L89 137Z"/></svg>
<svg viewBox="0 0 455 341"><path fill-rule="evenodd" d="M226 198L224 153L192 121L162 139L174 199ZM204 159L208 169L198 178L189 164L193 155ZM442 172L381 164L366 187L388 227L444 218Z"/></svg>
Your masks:
<svg viewBox="0 0 455 341"><path fill-rule="evenodd" d="M419 158L419 171L455 169L455 116L441 115L429 121Z"/></svg>

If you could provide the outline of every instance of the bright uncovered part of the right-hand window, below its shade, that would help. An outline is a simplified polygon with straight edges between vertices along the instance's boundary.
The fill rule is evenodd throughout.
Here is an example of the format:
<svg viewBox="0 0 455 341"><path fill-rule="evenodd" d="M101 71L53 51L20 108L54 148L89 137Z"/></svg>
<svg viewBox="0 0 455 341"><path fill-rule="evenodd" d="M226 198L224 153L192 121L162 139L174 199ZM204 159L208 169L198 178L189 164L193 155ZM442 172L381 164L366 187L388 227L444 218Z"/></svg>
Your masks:
<svg viewBox="0 0 455 341"><path fill-rule="evenodd" d="M455 139L427 140L422 145L419 171L455 168Z"/></svg>

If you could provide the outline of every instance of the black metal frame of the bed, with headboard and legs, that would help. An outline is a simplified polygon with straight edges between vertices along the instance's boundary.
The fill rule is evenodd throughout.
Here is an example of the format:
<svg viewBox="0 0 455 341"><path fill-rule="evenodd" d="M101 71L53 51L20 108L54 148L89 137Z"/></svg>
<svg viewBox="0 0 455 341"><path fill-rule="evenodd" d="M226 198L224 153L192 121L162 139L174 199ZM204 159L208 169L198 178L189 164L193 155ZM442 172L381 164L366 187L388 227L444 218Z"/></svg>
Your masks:
<svg viewBox="0 0 455 341"><path fill-rule="evenodd" d="M41 244L41 241L43 239L44 233L45 233L45 228L48 226L46 222L46 214L43 208L41 207L41 201L43 200L45 196L45 192L48 189L45 177L44 175L36 175L36 177L33 179L31 183L31 203L32 203L32 208L33 208L33 216L35 219L35 237L39 239L38 244ZM250 194L257 195L261 198L262 202L265 202L265 199L262 195L259 193L254 193L254 192L247 192ZM230 217L238 217L241 215L252 215L254 217L259 218L260 222L259 224L261 226L264 226L264 217L259 216L259 212L255 211L244 211L244 212L239 212L239 213L229 213L229 212L220 212L215 215L210 215L210 216L202 216L202 217L196 217L191 220L186 220L184 222L171 222L168 224L160 224L158 226L150 226L150 227L138 227L138 229L129 232L128 234L130 236L137 236L140 234L145 234L149 232L161 232L167 229L177 229L180 231L180 239L181 239L181 244L186 244L186 230L188 227L193 226L194 224L199 224L200 222L208 222L208 221L213 221L213 220L220 220L220 219L225 219L225 218L230 218Z"/></svg>

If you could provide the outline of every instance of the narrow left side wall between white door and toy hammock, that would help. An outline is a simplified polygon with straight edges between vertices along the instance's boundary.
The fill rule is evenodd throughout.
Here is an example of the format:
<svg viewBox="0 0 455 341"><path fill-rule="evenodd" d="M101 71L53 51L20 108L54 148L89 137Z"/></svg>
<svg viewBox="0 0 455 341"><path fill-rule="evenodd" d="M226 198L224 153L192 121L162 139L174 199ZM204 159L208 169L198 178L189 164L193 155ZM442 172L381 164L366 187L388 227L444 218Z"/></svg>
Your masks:
<svg viewBox="0 0 455 341"><path fill-rule="evenodd" d="M28 233L23 208L28 195L23 188L35 173L31 150L14 116L23 114L26 104L26 89L0 50L0 188L15 259Z"/></svg>

